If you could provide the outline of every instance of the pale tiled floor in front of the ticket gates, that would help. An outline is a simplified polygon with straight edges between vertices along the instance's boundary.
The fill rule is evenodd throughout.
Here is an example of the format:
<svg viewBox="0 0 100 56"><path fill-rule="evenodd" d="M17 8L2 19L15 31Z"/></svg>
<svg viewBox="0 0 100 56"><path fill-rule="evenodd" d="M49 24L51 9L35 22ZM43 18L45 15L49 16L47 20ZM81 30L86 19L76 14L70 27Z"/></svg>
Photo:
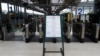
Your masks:
<svg viewBox="0 0 100 56"><path fill-rule="evenodd" d="M59 50L61 43L47 43L47 50ZM0 56L42 56L43 43L22 41L0 41ZM46 56L61 56L50 53ZM99 43L65 43L65 56L100 56Z"/></svg>

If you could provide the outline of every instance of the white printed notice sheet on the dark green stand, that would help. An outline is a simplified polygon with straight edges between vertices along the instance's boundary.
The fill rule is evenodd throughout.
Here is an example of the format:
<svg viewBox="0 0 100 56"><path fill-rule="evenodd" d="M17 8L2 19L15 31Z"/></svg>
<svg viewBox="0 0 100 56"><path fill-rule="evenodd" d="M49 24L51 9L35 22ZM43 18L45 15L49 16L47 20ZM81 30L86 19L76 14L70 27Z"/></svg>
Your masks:
<svg viewBox="0 0 100 56"><path fill-rule="evenodd" d="M46 37L61 37L60 16L46 16Z"/></svg>

